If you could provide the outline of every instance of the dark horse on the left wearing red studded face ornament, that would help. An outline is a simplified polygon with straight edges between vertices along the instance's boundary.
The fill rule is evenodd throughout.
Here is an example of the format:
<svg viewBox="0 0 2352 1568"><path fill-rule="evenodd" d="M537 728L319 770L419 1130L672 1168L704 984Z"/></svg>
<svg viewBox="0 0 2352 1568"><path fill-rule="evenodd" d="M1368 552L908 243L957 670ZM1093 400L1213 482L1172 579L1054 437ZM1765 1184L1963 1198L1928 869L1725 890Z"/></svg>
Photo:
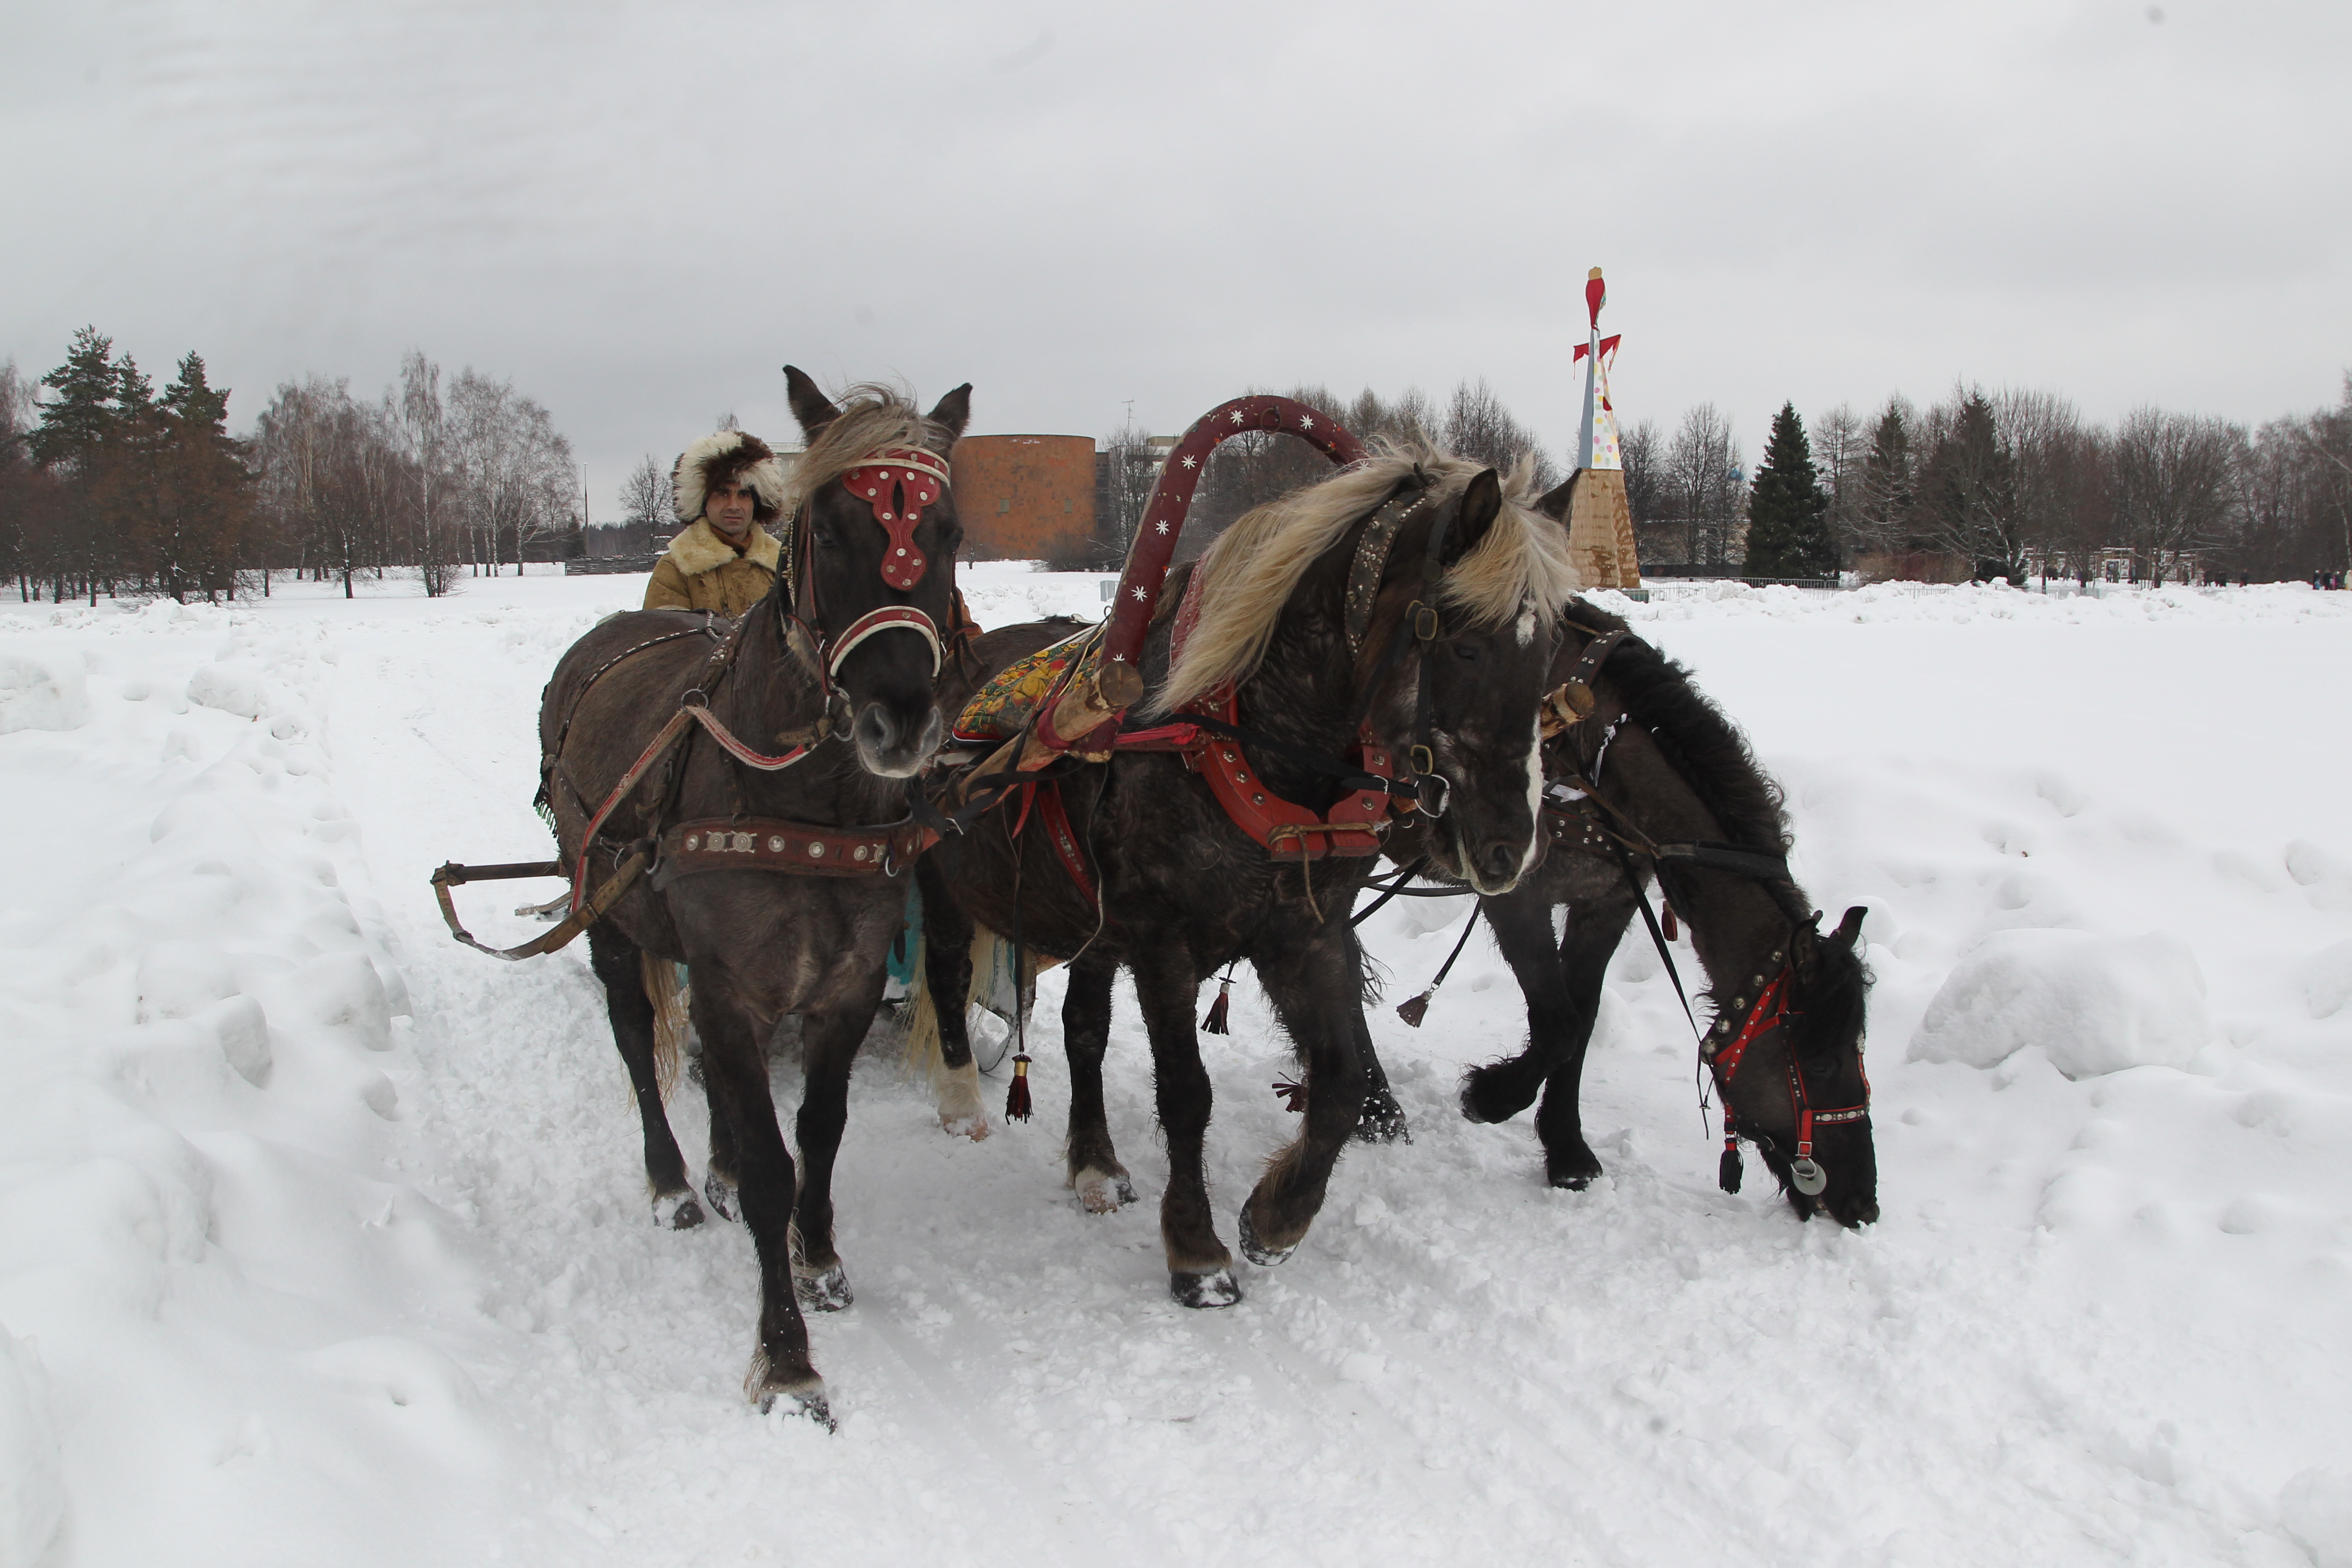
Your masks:
<svg viewBox="0 0 2352 1568"><path fill-rule="evenodd" d="M924 416L882 388L858 388L835 407L797 369L786 376L809 449L793 473L774 592L741 625L687 611L604 621L555 668L539 726L557 842L567 863L588 856L590 893L661 837L654 870L588 933L637 1091L654 1213L670 1225L701 1220L661 1112L642 954L691 966L710 1098L706 1192L724 1211L736 1187L760 1251L746 1394L762 1406L788 1394L830 1420L800 1302L849 1305L833 1246L833 1159L849 1065L882 999L906 907L913 776L941 736L934 677L962 527L946 484L936 494L929 484L964 428L971 388ZM882 461L891 451L896 468ZM920 512L913 527L910 512ZM910 559L927 564L910 569ZM583 844L607 792L682 705L706 705L717 726L687 724ZM781 769L748 766L717 729L764 762L795 748L807 755ZM713 823L720 832L694 830ZM828 853L854 875L779 870ZM804 1048L797 1171L764 1058L786 1013L802 1018Z"/></svg>

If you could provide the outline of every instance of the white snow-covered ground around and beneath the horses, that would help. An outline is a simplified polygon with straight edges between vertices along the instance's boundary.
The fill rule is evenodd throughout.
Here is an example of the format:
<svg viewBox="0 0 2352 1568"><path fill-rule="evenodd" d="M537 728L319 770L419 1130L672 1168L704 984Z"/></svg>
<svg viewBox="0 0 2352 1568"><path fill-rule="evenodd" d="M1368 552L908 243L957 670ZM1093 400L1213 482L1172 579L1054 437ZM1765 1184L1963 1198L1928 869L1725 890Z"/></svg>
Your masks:
<svg viewBox="0 0 2352 1568"><path fill-rule="evenodd" d="M1049 976L1025 1126L858 1067L826 1436L741 1401L746 1234L647 1218L583 950L496 964L426 891L546 853L541 682L640 578L367 588L0 607L0 1563L2352 1563L2352 595L1623 607L1870 905L1884 1220L1715 1190L1637 945L1611 1175L1545 1190L1526 1119L1451 1110L1522 1037L1475 943L1425 1030L1374 1016L1414 1143L1183 1312L1127 999L1145 1201L1061 1187ZM1395 997L1458 917L1371 922ZM1235 1001L1228 1237L1287 1138Z"/></svg>

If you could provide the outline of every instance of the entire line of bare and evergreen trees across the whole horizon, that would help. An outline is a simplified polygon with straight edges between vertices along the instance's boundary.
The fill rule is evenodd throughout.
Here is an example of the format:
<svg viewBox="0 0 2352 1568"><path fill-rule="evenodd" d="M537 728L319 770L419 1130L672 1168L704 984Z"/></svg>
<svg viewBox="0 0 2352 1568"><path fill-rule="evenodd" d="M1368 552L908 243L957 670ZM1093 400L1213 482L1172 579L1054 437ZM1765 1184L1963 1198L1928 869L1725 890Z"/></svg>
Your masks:
<svg viewBox="0 0 2352 1568"><path fill-rule="evenodd" d="M1425 442L1510 468L1538 489L1564 470L1484 381L1437 402L1421 390L1291 397L1362 440ZM729 418L720 421L731 423ZM2089 581L2284 581L2352 567L2352 374L2333 409L2249 428L2140 407L2098 425L2053 393L1955 388L1917 407L1849 404L1811 428L1773 418L1766 461L1745 468L1715 404L1623 428L1625 494L1644 567L1748 576ZM1124 555L1160 449L1124 425L1101 440L1101 559ZM1305 442L1242 435L1192 503L1183 555L1251 505L1329 473ZM668 475L647 458L623 487L628 520L668 515ZM524 555L579 552L581 482L550 414L510 381L447 378L407 353L376 400L306 376L275 390L249 435L228 433L228 390L186 355L158 393L94 327L64 364L28 381L0 364L0 574L19 597L146 590L268 592L270 571L343 583L390 569L428 595L463 571L520 571Z"/></svg>

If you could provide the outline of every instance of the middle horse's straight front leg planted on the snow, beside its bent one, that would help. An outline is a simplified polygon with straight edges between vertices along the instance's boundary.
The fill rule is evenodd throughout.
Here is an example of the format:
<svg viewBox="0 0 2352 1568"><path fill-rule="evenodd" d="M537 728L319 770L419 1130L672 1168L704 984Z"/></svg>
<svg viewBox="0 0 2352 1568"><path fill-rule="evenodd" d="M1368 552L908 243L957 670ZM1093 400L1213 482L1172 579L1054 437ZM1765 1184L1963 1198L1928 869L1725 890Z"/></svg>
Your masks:
<svg viewBox="0 0 2352 1568"><path fill-rule="evenodd" d="M1160 1135L1169 1145L1169 1185L1160 1194L1160 1244L1169 1260L1169 1293L1185 1307L1230 1307L1242 1300L1232 1279L1232 1253L1216 1239L1209 1213L1209 1173L1202 1145L1209 1135L1209 1070L1200 1060L1192 1006L1200 1004L1200 971L1174 940L1143 943L1134 959L1136 1001L1152 1037L1152 1098Z"/></svg>

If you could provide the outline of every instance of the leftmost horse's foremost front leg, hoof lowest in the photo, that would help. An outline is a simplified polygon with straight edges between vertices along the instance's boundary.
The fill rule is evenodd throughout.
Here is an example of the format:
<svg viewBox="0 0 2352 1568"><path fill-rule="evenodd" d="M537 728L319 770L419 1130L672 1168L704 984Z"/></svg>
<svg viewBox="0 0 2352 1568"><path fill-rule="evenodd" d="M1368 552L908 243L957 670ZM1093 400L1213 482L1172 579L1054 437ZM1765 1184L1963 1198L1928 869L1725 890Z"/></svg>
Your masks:
<svg viewBox="0 0 2352 1568"><path fill-rule="evenodd" d="M793 1291L793 1152L783 1147L783 1131L776 1126L762 1048L776 1020L743 1018L734 1006L722 1006L727 987L717 971L715 961L708 971L703 964L694 969L694 1027L703 1037L703 1074L715 1114L734 1133L736 1197L760 1255L760 1328L743 1394L762 1410L783 1394L830 1427L826 1380L809 1363L809 1326Z"/></svg>

